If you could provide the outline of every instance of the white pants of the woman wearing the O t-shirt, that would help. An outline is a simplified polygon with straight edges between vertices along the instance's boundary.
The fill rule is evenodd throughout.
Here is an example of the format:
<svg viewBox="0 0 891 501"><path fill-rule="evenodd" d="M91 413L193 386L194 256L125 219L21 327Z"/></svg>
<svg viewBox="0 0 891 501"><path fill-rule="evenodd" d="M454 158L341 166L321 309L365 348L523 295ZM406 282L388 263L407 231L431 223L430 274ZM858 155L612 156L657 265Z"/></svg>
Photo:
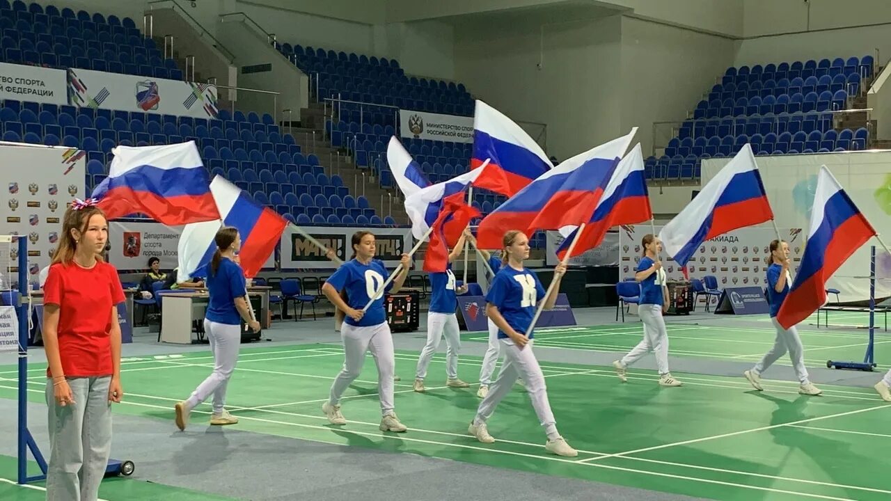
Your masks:
<svg viewBox="0 0 891 501"><path fill-rule="evenodd" d="M337 379L331 384L329 402L337 405L340 396L349 384L362 374L365 364L365 352L371 351L374 363L378 366L378 395L380 396L380 413L388 415L393 412L393 374L396 372L396 357L393 354L393 336L387 322L367 327L356 327L346 322L340 327L340 338L343 340L343 368Z"/></svg>

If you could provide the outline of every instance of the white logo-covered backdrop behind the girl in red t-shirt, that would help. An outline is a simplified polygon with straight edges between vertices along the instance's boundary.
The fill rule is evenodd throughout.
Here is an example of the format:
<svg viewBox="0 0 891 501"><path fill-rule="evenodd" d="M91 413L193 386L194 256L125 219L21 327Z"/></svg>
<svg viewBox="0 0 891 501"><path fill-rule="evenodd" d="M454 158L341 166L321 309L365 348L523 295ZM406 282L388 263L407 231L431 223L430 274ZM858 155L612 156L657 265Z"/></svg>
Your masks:
<svg viewBox="0 0 891 501"><path fill-rule="evenodd" d="M6 216L0 234L28 238L29 282L37 283L59 244L61 218L74 197L84 198L86 152L62 146L0 145L0 187L5 187ZM0 262L19 272L19 247L13 244ZM9 261L6 261L9 259ZM4 270L5 273L5 270ZM18 283L13 283L17 288Z"/></svg>

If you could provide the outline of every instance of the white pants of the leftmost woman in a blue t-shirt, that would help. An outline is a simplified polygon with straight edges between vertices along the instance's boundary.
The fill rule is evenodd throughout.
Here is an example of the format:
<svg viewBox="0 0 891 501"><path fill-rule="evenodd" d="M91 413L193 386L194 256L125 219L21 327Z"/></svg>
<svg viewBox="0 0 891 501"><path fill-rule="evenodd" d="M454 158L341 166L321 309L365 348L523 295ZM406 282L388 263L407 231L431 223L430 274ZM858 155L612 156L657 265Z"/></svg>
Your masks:
<svg viewBox="0 0 891 501"><path fill-rule="evenodd" d="M213 394L214 414L220 414L225 406L225 389L241 349L241 325L217 324L205 318L204 330L208 333L210 352L214 354L214 372L192 391L185 407L192 410Z"/></svg>

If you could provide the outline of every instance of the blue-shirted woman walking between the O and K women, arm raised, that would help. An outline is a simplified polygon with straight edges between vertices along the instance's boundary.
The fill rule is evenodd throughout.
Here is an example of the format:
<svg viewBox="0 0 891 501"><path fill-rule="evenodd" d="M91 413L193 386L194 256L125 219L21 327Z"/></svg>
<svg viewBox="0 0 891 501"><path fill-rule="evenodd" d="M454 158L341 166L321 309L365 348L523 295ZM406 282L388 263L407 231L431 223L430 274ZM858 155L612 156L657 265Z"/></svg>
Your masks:
<svg viewBox="0 0 891 501"><path fill-rule="evenodd" d="M461 350L461 329L458 327L458 317L454 310L458 307L456 294L467 292L467 284L455 287L452 263L464 247L464 239L470 234L470 229L464 231L454 249L448 255L448 268L445 272L430 273L430 307L427 313L427 343L421 349L418 357L418 366L414 376L413 389L424 391L424 378L427 377L427 367L433 354L439 347L439 340L446 337L446 386L452 388L467 388L470 384L458 379L458 351Z"/></svg>

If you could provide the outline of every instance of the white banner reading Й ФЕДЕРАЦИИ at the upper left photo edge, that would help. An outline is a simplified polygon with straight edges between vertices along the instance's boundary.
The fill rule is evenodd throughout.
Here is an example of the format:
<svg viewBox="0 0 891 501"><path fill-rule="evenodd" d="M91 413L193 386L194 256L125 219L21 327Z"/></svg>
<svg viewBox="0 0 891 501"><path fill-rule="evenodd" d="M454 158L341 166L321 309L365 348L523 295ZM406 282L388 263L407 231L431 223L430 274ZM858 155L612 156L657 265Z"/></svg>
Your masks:
<svg viewBox="0 0 891 501"><path fill-rule="evenodd" d="M0 99L68 104L65 71L0 62Z"/></svg>

